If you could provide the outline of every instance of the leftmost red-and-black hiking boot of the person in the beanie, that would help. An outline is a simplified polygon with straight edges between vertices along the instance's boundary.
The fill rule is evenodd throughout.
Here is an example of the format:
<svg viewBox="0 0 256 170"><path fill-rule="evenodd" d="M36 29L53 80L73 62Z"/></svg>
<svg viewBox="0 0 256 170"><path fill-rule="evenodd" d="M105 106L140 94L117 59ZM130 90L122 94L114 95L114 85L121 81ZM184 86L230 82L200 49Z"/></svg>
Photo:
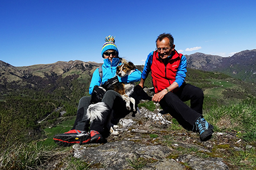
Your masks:
<svg viewBox="0 0 256 170"><path fill-rule="evenodd" d="M75 143L82 145L90 142L90 134L82 130L69 130L66 133L55 135L53 141L60 146L71 146Z"/></svg>

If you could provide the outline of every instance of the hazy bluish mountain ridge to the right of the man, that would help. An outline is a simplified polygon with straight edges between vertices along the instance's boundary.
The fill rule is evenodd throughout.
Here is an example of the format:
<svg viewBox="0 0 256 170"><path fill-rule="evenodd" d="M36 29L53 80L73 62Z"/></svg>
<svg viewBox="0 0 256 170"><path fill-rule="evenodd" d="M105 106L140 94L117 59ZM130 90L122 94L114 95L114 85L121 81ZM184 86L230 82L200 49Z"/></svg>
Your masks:
<svg viewBox="0 0 256 170"><path fill-rule="evenodd" d="M191 69L218 71L246 82L256 82L256 49L243 50L231 57L204 53L185 55Z"/></svg>

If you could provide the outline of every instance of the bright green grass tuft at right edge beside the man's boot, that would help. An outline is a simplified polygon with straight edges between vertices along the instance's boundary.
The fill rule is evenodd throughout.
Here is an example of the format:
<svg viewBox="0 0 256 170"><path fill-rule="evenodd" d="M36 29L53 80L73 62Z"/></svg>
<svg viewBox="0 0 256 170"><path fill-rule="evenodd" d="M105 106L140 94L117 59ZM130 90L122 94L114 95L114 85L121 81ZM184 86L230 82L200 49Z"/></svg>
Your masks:
<svg viewBox="0 0 256 170"><path fill-rule="evenodd" d="M254 99L255 100L255 99ZM256 109L252 100L211 109L205 119L214 125L217 131L240 131L245 141L256 140Z"/></svg>

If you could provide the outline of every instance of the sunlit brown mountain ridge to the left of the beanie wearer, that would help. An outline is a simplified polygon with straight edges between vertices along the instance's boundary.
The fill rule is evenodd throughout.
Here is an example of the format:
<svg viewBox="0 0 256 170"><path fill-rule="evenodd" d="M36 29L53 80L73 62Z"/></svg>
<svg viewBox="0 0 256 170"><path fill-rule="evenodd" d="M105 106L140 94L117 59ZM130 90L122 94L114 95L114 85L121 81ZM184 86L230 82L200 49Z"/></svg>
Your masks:
<svg viewBox="0 0 256 170"><path fill-rule="evenodd" d="M102 64L76 60L14 67L9 63L0 61L0 92L5 94L20 88L42 90L51 87L53 89L59 84L63 86L65 79L68 82L72 82L73 79L90 82L93 71L100 65Z"/></svg>

